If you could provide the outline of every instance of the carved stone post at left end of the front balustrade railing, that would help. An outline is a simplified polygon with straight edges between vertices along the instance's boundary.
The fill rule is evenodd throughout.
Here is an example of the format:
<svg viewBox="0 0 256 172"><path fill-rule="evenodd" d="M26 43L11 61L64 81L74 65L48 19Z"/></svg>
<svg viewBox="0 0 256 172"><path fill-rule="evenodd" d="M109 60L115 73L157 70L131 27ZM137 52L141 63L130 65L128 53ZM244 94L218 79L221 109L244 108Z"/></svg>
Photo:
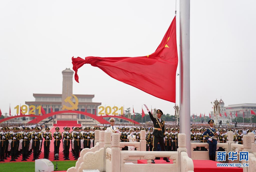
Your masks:
<svg viewBox="0 0 256 172"><path fill-rule="evenodd" d="M111 165L112 172L120 172L120 134L112 133Z"/></svg>

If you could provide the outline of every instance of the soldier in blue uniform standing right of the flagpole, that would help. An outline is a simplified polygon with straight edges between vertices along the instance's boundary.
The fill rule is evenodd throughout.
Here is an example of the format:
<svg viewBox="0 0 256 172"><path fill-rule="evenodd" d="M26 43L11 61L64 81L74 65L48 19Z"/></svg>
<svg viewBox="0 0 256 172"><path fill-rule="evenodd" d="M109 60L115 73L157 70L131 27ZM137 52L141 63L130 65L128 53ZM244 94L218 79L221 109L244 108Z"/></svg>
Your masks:
<svg viewBox="0 0 256 172"><path fill-rule="evenodd" d="M206 131L203 133L203 136L208 134L205 138L208 140L207 143L209 144L209 159L212 161L215 161L215 155L216 155L216 148L217 148L217 136L220 134L216 131L215 128L213 128L214 120L210 119L208 121L208 124L210 125L210 128L206 129Z"/></svg>

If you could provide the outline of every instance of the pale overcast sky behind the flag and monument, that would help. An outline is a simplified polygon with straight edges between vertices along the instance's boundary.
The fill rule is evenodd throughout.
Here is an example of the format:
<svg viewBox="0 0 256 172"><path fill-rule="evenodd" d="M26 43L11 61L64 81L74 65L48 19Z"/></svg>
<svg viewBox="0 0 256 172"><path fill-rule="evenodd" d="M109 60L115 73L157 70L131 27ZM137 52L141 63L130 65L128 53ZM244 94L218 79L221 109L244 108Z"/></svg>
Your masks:
<svg viewBox="0 0 256 172"><path fill-rule="evenodd" d="M190 4L191 114L225 105L256 103L256 1L193 0ZM0 109L9 113L33 93L62 93L72 56L134 57L153 53L174 18L175 0L1 1ZM179 0L177 44L179 52ZM180 53L179 53L180 54ZM180 57L179 57L180 58ZM177 73L180 73L178 65ZM73 79L74 94L125 109L141 105L174 114L174 103L119 82L89 64ZM176 77L179 104L179 76ZM146 109L144 108L144 111Z"/></svg>

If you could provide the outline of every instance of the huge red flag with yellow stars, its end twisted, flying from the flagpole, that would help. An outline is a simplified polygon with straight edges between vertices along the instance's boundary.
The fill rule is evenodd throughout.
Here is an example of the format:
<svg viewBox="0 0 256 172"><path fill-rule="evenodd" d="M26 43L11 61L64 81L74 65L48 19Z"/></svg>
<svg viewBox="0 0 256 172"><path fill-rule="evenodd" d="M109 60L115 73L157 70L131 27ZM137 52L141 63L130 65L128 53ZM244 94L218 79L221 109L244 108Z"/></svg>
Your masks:
<svg viewBox="0 0 256 172"><path fill-rule="evenodd" d="M91 64L118 81L175 103L178 65L176 17L153 54L141 57L72 57L72 64L76 82L77 70L84 64Z"/></svg>

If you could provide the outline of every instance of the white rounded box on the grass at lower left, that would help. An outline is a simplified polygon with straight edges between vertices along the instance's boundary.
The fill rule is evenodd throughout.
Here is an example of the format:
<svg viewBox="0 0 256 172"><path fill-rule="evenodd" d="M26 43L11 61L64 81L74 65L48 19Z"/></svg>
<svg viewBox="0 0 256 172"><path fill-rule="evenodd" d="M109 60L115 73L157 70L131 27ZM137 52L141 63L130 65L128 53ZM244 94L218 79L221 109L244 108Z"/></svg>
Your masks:
<svg viewBox="0 0 256 172"><path fill-rule="evenodd" d="M38 159L35 161L35 172L51 172L54 171L54 165L50 160Z"/></svg>

